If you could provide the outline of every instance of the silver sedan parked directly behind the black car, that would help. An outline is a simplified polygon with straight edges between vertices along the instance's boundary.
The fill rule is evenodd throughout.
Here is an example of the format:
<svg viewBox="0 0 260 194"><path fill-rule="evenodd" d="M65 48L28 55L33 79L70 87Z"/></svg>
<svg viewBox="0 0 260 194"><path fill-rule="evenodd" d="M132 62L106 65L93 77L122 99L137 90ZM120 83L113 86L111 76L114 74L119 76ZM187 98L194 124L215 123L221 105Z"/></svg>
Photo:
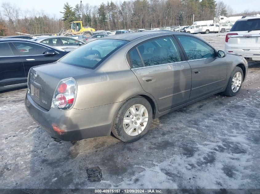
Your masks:
<svg viewBox="0 0 260 194"><path fill-rule="evenodd" d="M83 41L76 40L67 36L43 36L32 40L63 50L73 50L85 44Z"/></svg>

